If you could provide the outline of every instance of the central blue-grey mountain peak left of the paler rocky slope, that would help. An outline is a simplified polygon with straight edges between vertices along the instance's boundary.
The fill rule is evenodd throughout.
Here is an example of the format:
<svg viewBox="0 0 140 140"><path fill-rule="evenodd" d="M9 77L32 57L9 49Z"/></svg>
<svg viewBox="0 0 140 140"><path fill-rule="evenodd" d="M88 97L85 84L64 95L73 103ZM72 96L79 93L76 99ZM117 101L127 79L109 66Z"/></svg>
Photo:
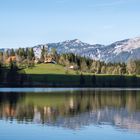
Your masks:
<svg viewBox="0 0 140 140"><path fill-rule="evenodd" d="M89 57L92 59L100 59L100 52L98 48L102 48L105 46L100 44L90 45L87 43L83 43L78 39L74 39L59 43L49 43L48 47L56 48L58 53L72 52L74 54Z"/></svg>

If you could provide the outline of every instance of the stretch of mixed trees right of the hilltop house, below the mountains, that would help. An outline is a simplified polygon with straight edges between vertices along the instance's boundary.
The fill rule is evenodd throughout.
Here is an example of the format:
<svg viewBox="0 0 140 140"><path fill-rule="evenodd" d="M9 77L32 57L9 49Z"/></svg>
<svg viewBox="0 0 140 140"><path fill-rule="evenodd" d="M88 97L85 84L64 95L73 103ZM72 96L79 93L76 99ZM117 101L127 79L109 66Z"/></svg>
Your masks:
<svg viewBox="0 0 140 140"><path fill-rule="evenodd" d="M139 75L140 60L130 60L127 63L105 63L100 60L81 57L73 53L61 54L59 64L64 66L73 65L75 70L93 74L108 75Z"/></svg>

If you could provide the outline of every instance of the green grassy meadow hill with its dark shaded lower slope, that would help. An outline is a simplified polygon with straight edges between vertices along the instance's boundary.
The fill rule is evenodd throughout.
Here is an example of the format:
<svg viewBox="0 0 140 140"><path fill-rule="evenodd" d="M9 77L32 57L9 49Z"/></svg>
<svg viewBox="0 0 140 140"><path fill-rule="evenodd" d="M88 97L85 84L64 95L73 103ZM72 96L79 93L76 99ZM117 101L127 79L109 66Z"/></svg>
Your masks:
<svg viewBox="0 0 140 140"><path fill-rule="evenodd" d="M33 86L53 87L138 87L140 77L133 75L94 75L66 69L58 64L37 64L20 73L28 77Z"/></svg>

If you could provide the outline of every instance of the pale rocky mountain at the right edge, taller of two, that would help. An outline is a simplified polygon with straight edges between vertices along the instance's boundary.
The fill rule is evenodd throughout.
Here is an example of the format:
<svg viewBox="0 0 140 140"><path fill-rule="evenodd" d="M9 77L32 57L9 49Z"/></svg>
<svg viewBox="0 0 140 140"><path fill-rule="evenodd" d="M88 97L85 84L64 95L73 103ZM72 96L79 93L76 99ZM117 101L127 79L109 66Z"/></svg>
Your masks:
<svg viewBox="0 0 140 140"><path fill-rule="evenodd" d="M127 62L140 59L140 38L117 41L101 49L101 60L106 62Z"/></svg>

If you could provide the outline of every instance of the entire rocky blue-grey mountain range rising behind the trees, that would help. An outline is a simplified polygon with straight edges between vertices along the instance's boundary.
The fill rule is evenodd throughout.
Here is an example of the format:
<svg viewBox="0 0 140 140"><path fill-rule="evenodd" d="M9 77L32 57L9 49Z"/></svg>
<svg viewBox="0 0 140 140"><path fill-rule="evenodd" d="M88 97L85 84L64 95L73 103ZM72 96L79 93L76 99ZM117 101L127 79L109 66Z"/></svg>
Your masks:
<svg viewBox="0 0 140 140"><path fill-rule="evenodd" d="M117 41L110 45L88 44L78 39L34 46L35 57L40 58L41 48L56 48L58 53L74 53L105 62L127 62L140 59L140 37ZM0 49L2 50L2 49Z"/></svg>

